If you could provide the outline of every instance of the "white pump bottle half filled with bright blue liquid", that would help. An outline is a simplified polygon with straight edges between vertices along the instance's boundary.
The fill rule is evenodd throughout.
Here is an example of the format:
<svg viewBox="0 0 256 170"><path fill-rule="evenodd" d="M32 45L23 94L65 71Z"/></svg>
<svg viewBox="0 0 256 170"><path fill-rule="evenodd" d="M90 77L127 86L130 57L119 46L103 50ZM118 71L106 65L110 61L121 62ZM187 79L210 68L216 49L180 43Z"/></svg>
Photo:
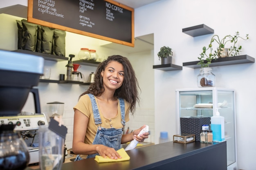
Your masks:
<svg viewBox="0 0 256 170"><path fill-rule="evenodd" d="M224 117L220 116L218 108L215 116L211 117L211 130L213 141L221 142L225 140Z"/></svg>

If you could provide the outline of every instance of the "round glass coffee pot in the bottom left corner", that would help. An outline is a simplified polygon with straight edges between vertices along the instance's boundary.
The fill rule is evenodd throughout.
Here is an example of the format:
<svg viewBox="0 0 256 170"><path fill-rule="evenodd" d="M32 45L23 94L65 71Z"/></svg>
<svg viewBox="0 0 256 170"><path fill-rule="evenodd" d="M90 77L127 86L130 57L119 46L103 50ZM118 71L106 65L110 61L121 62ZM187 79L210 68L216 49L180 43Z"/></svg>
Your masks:
<svg viewBox="0 0 256 170"><path fill-rule="evenodd" d="M18 132L13 131L15 125L0 126L0 170L24 170L29 163L29 152L25 141Z"/></svg>

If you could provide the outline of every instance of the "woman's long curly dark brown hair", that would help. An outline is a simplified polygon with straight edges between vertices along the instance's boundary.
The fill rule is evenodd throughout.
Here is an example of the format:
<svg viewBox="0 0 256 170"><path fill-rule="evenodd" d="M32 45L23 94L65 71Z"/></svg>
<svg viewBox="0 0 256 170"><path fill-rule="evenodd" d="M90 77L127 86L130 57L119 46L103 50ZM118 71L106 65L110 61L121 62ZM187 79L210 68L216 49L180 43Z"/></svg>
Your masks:
<svg viewBox="0 0 256 170"><path fill-rule="evenodd" d="M87 91L79 96L79 98L88 93L91 93L94 96L99 96L105 91L101 72L105 71L106 66L112 61L117 61L124 66L124 82L122 86L115 91L114 96L126 99L126 101L130 103L130 112L133 115L135 113L136 103L139 104L140 101L138 93L138 89L140 88L132 64L130 64L130 61L126 57L121 55L111 55L107 60L104 60L99 64L94 75L94 82L90 85Z"/></svg>

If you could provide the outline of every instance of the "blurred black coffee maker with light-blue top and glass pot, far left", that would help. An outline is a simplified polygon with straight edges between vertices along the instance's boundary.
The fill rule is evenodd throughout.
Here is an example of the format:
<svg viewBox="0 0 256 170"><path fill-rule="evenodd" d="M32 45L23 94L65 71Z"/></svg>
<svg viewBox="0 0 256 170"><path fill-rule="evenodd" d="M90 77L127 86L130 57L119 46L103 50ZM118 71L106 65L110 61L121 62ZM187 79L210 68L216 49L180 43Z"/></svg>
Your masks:
<svg viewBox="0 0 256 170"><path fill-rule="evenodd" d="M32 87L38 85L43 75L44 59L0 50L0 60L0 116L17 116ZM24 170L29 163L28 149L18 132L13 131L22 121L7 121L7 124L1 121L0 125L0 169Z"/></svg>

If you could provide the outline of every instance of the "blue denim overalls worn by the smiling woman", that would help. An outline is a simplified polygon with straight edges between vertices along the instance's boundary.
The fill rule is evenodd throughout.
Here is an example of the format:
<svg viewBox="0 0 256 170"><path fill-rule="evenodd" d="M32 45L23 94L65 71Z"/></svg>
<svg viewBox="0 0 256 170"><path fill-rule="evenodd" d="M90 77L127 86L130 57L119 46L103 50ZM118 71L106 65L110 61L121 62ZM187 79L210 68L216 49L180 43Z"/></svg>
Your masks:
<svg viewBox="0 0 256 170"><path fill-rule="evenodd" d="M121 109L121 124L123 125L123 128L103 128L101 127L101 117L99 115L99 110L97 107L97 103L95 101L94 95L88 94L91 102L92 102L92 110L93 110L93 117L94 117L94 123L98 125L98 130L96 132L96 135L94 137L94 140L92 142L93 145L95 144L101 144L104 146L108 146L110 148L114 148L115 150L119 150L121 147L121 139L123 135L123 129L125 126L125 108L124 108L124 99L118 98L120 103L120 109ZM99 153L95 153L92 155L88 155L86 159L93 158L96 155L99 155ZM74 161L82 160L79 155L76 156L76 159Z"/></svg>

